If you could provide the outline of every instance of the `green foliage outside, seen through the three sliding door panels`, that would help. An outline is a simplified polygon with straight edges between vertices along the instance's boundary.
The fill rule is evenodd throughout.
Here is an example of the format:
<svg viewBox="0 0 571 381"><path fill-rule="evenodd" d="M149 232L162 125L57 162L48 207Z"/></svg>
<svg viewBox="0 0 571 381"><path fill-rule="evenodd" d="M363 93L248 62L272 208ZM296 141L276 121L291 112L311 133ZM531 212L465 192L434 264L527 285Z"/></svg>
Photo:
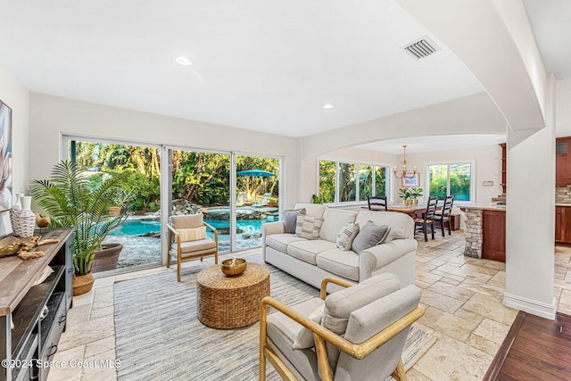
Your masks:
<svg viewBox="0 0 571 381"><path fill-rule="evenodd" d="M133 189L128 203L129 211L146 212L160 209L161 158L158 149L76 142L75 151L78 166L96 175L88 178L91 186L96 185L100 173L127 172L128 184ZM205 206L228 205L231 198L228 154L173 151L171 159L173 199L185 199ZM249 198L269 192L277 201L279 160L236 156L236 171L252 169L266 170L276 176L237 176L237 192L244 191Z"/></svg>

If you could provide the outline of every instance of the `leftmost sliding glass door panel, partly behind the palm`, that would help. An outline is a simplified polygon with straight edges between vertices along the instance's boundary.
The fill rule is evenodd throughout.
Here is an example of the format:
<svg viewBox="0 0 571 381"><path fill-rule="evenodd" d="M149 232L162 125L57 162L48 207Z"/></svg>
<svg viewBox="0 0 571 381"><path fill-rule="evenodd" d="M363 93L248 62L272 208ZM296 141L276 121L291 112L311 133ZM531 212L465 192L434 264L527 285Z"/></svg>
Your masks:
<svg viewBox="0 0 571 381"><path fill-rule="evenodd" d="M126 220L111 231L103 244L123 245L117 269L161 263L161 156L158 147L128 145L83 137L65 137L67 152L85 170L88 185L128 172L128 191L118 195L126 202Z"/></svg>

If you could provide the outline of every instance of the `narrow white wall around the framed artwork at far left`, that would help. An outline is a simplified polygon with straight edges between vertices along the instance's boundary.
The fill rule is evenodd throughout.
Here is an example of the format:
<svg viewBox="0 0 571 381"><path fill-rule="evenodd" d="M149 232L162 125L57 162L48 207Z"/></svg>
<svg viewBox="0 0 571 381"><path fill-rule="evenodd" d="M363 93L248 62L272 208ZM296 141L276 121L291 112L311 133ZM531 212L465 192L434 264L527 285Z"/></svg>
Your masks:
<svg viewBox="0 0 571 381"><path fill-rule="evenodd" d="M29 168L29 92L1 63L0 99L12 109L12 195L24 193L28 184ZM9 232L7 221L8 213L0 213L0 236Z"/></svg>

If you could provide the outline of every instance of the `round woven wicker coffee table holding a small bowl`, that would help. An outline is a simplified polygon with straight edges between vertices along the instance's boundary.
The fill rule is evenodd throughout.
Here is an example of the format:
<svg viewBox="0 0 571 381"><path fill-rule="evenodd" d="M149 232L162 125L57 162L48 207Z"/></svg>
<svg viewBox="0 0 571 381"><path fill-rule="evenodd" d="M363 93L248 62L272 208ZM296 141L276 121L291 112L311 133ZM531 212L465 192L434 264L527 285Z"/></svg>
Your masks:
<svg viewBox="0 0 571 381"><path fill-rule="evenodd" d="M196 316L213 328L249 326L260 319L260 302L269 296L269 270L248 262L242 275L227 277L220 265L196 276Z"/></svg>

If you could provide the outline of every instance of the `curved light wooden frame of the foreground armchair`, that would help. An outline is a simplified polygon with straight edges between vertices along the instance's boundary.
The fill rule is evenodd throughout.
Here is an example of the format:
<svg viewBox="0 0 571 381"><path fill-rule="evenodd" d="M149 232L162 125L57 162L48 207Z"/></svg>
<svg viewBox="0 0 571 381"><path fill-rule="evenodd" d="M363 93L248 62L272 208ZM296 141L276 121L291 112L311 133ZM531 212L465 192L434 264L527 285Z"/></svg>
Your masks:
<svg viewBox="0 0 571 381"><path fill-rule="evenodd" d="M337 279L335 277L325 277L321 281L321 290L319 297L325 300L327 296L327 284L334 283L335 285L350 287L354 286L352 283ZM274 307L277 311L282 312L290 319L301 324L303 327L308 328L313 332L313 339L315 340L315 349L318 358L319 373L323 381L331 381L331 369L329 367L329 361L327 359L327 350L325 342L335 345L341 351L349 354L355 359L363 359L368 356L371 352L377 350L378 347L385 344L394 335L397 335L404 328L409 327L414 321L418 320L425 313L425 309L422 306L418 306L413 311L403 316L401 319L395 321L390 326L383 329L377 335L370 337L367 341L361 344L353 344L348 340L345 340L342 336L336 335L334 332L330 331L326 327L320 326L318 323L308 319L302 314L294 311L285 304L278 302L271 296L266 296L261 301L260 309L260 381L266 379L266 359L272 364L277 373L285 380L297 380L292 371L287 368L284 361L281 360L276 352L271 349L267 342L267 324L268 324L268 308ZM406 380L406 374L404 372L404 366L402 360L399 360L396 369L393 371L392 375L397 380Z"/></svg>

